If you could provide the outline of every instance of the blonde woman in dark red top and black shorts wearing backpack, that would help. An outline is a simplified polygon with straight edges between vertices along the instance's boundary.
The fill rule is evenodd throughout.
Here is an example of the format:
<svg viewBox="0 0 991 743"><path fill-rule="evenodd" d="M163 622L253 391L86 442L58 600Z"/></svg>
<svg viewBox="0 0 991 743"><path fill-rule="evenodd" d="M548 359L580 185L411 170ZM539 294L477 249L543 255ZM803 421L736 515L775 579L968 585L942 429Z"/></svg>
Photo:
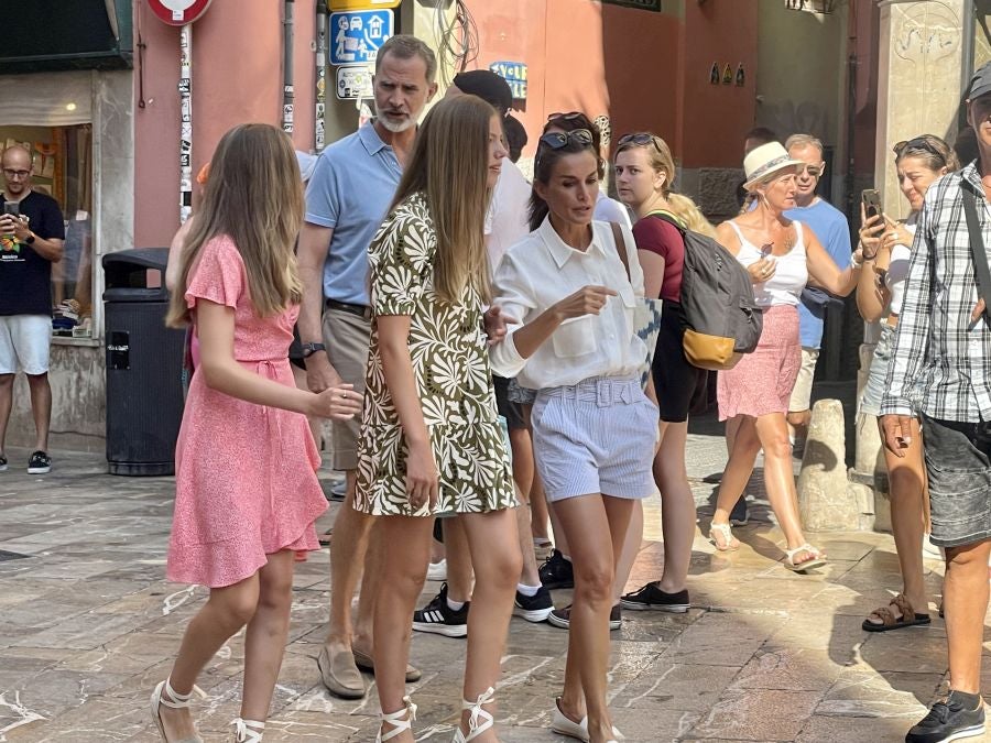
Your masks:
<svg viewBox="0 0 991 743"><path fill-rule="evenodd" d="M688 564L695 539L695 496L685 469L685 444L688 437L688 411L693 402L706 394L708 372L693 367L682 347L682 265L685 242L683 229L716 237L695 203L672 190L676 170L667 143L655 134L627 134L617 143L614 177L623 203L636 215L633 237L636 239L643 267L644 294L663 302L661 330L654 352L651 376L661 408L661 448L654 456L654 482L661 491L661 525L664 532L664 572L638 591L622 597L623 609L688 611ZM640 504L634 524L643 522ZM639 518L638 518L639 516ZM629 576L640 550L640 531L631 527L620 575ZM619 582L619 581L617 581ZM620 590L622 587L619 587Z"/></svg>

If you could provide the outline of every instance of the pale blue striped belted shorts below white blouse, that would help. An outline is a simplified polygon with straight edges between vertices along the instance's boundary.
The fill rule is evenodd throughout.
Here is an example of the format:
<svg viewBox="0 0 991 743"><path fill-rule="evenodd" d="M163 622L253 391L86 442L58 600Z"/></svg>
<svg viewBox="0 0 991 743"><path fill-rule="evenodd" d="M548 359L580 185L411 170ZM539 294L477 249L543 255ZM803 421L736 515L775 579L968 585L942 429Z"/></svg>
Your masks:
<svg viewBox="0 0 991 743"><path fill-rule="evenodd" d="M537 392L533 448L547 500L650 495L658 419L639 378L593 376Z"/></svg>

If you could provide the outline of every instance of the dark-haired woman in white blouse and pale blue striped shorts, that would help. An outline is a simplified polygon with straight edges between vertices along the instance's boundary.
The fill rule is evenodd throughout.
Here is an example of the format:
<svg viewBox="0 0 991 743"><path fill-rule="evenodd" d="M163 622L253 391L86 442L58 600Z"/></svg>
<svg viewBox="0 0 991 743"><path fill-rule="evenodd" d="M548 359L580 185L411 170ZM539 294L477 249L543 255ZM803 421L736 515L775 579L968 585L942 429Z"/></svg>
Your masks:
<svg viewBox="0 0 991 743"><path fill-rule="evenodd" d="M494 282L493 304L518 324L491 350L498 373L538 390L537 470L575 568L552 728L591 743L620 736L606 703L613 580L633 504L654 489L657 433L657 407L640 384L646 349L633 314L643 273L633 236L618 228L617 240L592 220L601 167L587 129L541 138L533 231L510 248Z"/></svg>

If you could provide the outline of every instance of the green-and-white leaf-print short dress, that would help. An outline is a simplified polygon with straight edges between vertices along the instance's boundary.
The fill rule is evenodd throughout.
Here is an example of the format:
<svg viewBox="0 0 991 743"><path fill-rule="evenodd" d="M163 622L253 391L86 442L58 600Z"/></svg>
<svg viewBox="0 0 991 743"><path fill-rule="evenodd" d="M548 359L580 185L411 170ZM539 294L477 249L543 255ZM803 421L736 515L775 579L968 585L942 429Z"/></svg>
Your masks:
<svg viewBox="0 0 991 743"><path fill-rule="evenodd" d="M372 515L483 513L516 505L496 412L483 304L473 288L448 304L434 293L437 240L423 194L386 217L369 247L372 327L358 438L355 507ZM385 383L378 318L410 316L416 393L440 471L439 498L413 509L406 496L407 446Z"/></svg>

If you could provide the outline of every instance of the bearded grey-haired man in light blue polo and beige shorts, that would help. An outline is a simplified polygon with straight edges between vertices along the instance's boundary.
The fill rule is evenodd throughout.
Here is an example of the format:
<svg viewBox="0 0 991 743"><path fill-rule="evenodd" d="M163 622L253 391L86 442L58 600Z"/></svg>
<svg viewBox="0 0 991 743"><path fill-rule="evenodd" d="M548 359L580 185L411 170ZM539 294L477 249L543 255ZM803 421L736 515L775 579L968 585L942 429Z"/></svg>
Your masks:
<svg viewBox="0 0 991 743"><path fill-rule="evenodd" d="M434 53L415 36L385 42L375 61L377 118L323 152L306 189L298 249L303 280L298 327L306 378L314 392L341 381L364 391L371 335L368 245L413 150L420 114L437 91L436 70ZM345 699L366 693L358 666L370 669L372 665L372 616L381 572L372 517L352 507L359 425L357 418L331 424L331 463L345 471L347 493L334 522L330 624L317 658L324 686ZM351 598L362 567L352 630ZM406 680L418 678L420 671L410 667Z"/></svg>

